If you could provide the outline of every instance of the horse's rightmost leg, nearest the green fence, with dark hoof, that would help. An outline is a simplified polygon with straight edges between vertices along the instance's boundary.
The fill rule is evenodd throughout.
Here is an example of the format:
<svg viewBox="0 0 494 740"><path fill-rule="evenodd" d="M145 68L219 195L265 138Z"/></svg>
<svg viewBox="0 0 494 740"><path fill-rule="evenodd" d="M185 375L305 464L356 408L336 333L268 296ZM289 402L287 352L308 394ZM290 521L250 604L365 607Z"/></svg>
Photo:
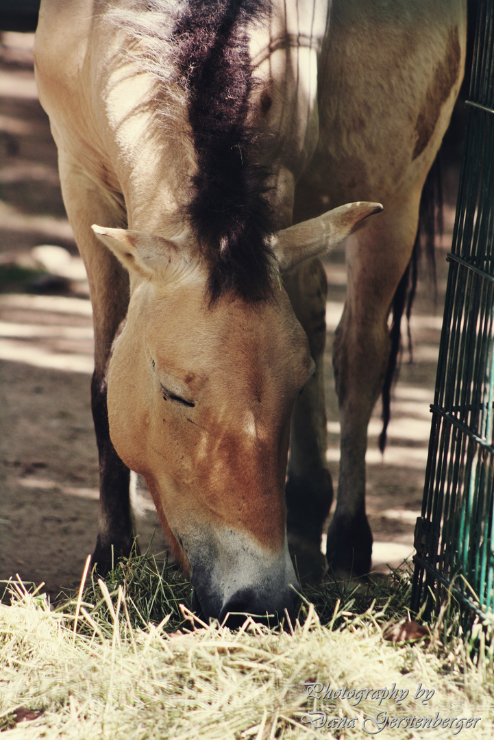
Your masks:
<svg viewBox="0 0 494 740"><path fill-rule="evenodd" d="M371 570L372 534L365 514L367 428L382 391L390 351L388 314L413 249L418 199L393 208L348 239L348 292L334 337L341 450L336 509L327 557L336 575Z"/></svg>

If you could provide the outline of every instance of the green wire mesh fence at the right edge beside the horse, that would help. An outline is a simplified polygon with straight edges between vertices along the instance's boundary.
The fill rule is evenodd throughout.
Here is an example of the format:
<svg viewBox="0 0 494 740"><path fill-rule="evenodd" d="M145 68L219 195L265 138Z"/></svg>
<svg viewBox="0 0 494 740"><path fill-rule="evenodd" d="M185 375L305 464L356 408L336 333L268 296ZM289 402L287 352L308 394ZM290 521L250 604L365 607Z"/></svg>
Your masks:
<svg viewBox="0 0 494 740"><path fill-rule="evenodd" d="M412 609L494 611L494 2L480 0ZM440 594L439 594L440 595Z"/></svg>

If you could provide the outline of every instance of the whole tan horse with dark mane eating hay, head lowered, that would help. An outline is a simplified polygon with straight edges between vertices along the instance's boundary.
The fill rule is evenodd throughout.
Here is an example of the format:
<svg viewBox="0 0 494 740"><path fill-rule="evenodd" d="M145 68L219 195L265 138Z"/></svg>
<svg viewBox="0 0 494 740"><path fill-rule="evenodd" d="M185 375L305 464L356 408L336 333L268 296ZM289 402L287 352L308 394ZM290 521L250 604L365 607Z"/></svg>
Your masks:
<svg viewBox="0 0 494 740"><path fill-rule="evenodd" d="M351 232L328 557L370 568L368 420L461 82L464 13L461 0L41 3L38 88L94 309L100 568L132 545L130 468L206 616L292 607L287 522L317 568L332 499L317 255Z"/></svg>

